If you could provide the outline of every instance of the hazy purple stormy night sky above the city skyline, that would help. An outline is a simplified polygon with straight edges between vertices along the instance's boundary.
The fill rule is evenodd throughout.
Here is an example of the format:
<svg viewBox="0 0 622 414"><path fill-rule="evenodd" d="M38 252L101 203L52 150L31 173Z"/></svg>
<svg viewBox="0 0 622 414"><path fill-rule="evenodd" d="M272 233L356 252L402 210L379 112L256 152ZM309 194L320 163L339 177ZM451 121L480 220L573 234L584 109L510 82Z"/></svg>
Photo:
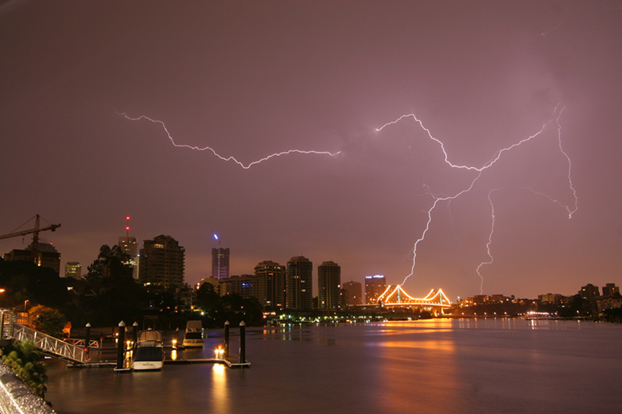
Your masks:
<svg viewBox="0 0 622 414"><path fill-rule="evenodd" d="M190 284L211 273L212 230L232 274L304 255L398 284L430 193L476 175L412 117L376 131L414 114L475 168L546 126L437 203L408 293L622 284L621 39L619 0L4 1L0 233L39 213L86 268L129 215L141 246L185 247ZM116 112L245 165L339 155L244 169Z"/></svg>

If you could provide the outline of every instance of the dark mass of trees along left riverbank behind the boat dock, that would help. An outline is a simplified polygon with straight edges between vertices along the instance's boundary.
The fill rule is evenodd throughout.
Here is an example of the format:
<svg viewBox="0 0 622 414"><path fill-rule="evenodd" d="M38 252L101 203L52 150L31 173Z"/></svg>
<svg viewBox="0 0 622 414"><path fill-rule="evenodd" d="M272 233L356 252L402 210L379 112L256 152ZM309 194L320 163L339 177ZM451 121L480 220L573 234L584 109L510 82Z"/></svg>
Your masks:
<svg viewBox="0 0 622 414"><path fill-rule="evenodd" d="M26 311L43 305L62 313L72 326L116 326L145 320L159 326L184 328L189 319L201 319L206 327L222 327L226 320L248 325L263 324L256 299L238 295L220 297L209 284L196 292L194 311L176 301L174 289L142 286L133 279L129 257L118 246L102 246L97 259L82 279L59 277L54 270L33 262L0 259L0 307ZM206 286L209 285L209 286ZM191 292L189 286L182 289Z"/></svg>

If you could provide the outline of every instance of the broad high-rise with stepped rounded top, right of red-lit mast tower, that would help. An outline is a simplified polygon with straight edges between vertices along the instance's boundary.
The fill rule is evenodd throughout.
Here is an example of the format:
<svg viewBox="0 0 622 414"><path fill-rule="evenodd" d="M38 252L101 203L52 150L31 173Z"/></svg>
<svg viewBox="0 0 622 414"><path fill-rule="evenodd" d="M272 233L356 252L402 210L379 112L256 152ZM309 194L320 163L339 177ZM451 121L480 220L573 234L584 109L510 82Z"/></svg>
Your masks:
<svg viewBox="0 0 622 414"><path fill-rule="evenodd" d="M140 249L138 281L164 288L184 286L185 249L171 236L159 235L145 240Z"/></svg>

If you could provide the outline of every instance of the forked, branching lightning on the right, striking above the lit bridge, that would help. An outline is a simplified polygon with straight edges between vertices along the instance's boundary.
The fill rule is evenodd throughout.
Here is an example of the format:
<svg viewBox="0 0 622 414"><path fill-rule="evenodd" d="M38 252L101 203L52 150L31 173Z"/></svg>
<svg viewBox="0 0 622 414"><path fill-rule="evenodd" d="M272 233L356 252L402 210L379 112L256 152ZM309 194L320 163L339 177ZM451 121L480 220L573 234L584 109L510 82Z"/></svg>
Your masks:
<svg viewBox="0 0 622 414"><path fill-rule="evenodd" d="M399 121L402 121L403 119L413 118L415 120L415 122L417 122L417 124L419 124L420 128L422 128L422 130L424 130L426 132L426 134L428 135L429 139L432 139L433 141L435 141L440 146L440 148L441 148L441 150L443 152L444 161L445 161L446 164L451 166L451 168L457 168L457 169L460 169L460 170L469 170L469 171L476 172L475 177L473 178L473 180L471 180L471 184L469 184L469 186L464 188L464 190L461 190L458 193L455 193L455 195L435 195L435 194L431 193L430 189L427 186L425 186L426 190L427 190L427 193L433 199L433 203L432 203L432 206L425 212L426 215L427 215L426 226L425 226L421 236L415 242L415 246L413 246L413 248L411 250L412 253L413 253L413 266L411 266L411 273L409 273L408 275L406 275L406 277L404 277L404 281L402 282L402 284L406 283L406 280L408 280L409 277L411 277L411 276L413 276L415 274L415 264L417 263L417 247L426 238L426 234L428 233L428 230L430 230L430 224L432 222L433 212L434 212L435 208L439 205L439 203L441 201L451 201L451 200L457 199L458 197L460 197L464 193L468 193L469 191L471 191L471 189L473 188L473 186L475 186L475 183L478 181L478 179L480 179L480 177L482 177L482 173L485 170L487 170L488 168L490 168L491 166L493 166L494 164L496 164L496 162L501 158L501 156L503 155L504 152L508 152L508 151L512 150L513 148L516 148L518 146L521 146L522 144L525 144L528 141L531 141L532 139L536 139L537 137L539 137L544 132L544 130L547 128L547 126L552 124L553 121L555 122L555 124L557 126L557 139L558 139L559 150L564 155L564 157L566 158L566 160L568 162L568 175L567 175L567 177L568 177L569 188L572 190L572 195L574 197L574 208L571 208L570 206L564 205L564 204L560 203L560 201L557 201L556 199L553 199L552 197L550 197L548 195L545 195L544 193L537 193L535 190L532 190L532 191L534 191L534 193L536 193L536 194L548 197L551 201L554 201L557 204L559 204L560 206L563 206L567 210L568 218L572 218L572 215L577 210L578 199L577 199L577 196L576 196L576 190L574 189L574 186L572 184L572 162L570 160L570 157L563 150L562 141L561 141L561 124L560 124L559 120L560 120L560 117L561 117L562 112L564 111L564 109L565 109L565 107L562 107L560 109L560 104L558 104L555 107L555 109L554 109L552 119L550 121L548 121L547 123L545 123L542 126L542 128L540 128L540 130L538 130L538 132L536 132L534 135L531 135L530 137L521 139L520 141L516 142L516 144L512 144L511 146L508 146L507 148L502 148L501 150L498 150L495 153L495 155L493 155L493 157L490 159L490 161L487 161L481 167L453 164L451 161L449 161L449 155L447 154L447 152L445 150L445 146L442 143L442 141L440 141L439 139L433 137L433 135L430 132L430 130L423 125L423 122L420 119L418 119L415 114L402 115L401 117L395 119L395 121L390 121L390 122L384 124L383 126L381 126L380 128L376 129L377 132L380 132L384 128L386 128L388 126L395 125ZM491 190L491 192L492 191L493 190ZM489 202L490 202L490 204L492 206L492 209L493 209L491 233L489 235L489 241L488 241L488 243L486 245L487 246L487 253L488 253L489 257L490 257L490 261L489 262L482 262L482 264L480 264L480 266L478 266L478 268L477 268L477 273L478 273L478 275L480 275L480 278L482 278L482 284L480 285L480 289L482 290L482 292L483 292L484 279L483 279L482 275L480 274L480 268L482 266L484 266L485 264L491 264L493 262L493 257L491 255L491 250L490 250L490 246L491 246L491 243L492 243L493 229L494 229L494 206L492 204L491 193L489 193Z"/></svg>

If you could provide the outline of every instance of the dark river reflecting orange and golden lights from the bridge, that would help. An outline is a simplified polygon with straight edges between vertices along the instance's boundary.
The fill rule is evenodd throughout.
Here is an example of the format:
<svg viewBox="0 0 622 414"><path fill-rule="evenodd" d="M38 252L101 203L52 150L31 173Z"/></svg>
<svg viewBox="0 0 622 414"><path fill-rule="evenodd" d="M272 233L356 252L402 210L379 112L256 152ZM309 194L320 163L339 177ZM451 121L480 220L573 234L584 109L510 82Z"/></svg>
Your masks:
<svg viewBox="0 0 622 414"><path fill-rule="evenodd" d="M232 348L238 346L232 329ZM212 357L223 331L209 331ZM58 413L621 413L622 325L524 319L247 328L250 368L48 362ZM109 355L108 359L115 359Z"/></svg>

